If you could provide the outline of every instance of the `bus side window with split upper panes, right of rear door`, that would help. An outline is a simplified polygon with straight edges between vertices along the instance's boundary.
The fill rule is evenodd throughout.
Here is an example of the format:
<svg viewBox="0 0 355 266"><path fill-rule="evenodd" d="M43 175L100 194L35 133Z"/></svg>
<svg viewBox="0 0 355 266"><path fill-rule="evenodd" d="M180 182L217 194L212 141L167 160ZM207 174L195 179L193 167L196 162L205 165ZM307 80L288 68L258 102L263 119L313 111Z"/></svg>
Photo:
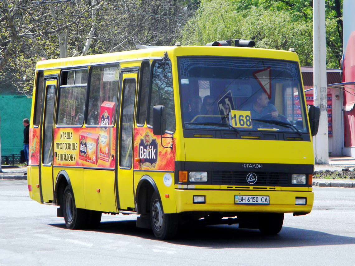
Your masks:
<svg viewBox="0 0 355 266"><path fill-rule="evenodd" d="M84 121L88 69L61 73L57 125L81 126Z"/></svg>

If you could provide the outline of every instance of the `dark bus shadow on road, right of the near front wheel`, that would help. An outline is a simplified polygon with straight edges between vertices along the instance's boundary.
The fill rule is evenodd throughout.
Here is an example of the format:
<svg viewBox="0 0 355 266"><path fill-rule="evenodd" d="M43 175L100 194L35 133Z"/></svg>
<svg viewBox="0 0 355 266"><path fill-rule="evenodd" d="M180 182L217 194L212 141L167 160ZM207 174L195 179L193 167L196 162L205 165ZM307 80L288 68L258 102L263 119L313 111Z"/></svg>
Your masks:
<svg viewBox="0 0 355 266"><path fill-rule="evenodd" d="M355 237L285 226L279 234L265 236L257 229L218 225L186 231L175 243L206 248L289 248L355 244Z"/></svg>

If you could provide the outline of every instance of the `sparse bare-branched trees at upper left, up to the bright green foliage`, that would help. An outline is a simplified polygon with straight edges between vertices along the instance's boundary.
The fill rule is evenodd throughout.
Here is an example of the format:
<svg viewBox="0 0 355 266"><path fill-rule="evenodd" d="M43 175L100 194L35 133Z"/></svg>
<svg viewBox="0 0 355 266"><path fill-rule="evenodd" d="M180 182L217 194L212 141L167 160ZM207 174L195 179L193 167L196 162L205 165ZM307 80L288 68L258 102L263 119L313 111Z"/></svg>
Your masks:
<svg viewBox="0 0 355 266"><path fill-rule="evenodd" d="M186 0L0 1L0 75L15 74L10 83L28 95L42 57L171 45L192 14Z"/></svg>

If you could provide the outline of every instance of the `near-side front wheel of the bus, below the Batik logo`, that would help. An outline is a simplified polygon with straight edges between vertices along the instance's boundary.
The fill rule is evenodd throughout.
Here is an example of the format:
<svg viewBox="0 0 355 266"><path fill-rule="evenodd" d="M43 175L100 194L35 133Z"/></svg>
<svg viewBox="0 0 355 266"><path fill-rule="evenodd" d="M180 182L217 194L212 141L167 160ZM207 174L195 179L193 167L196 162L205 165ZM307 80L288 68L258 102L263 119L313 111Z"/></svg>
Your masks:
<svg viewBox="0 0 355 266"><path fill-rule="evenodd" d="M157 193L153 193L150 205L150 220L154 236L158 239L171 239L176 236L179 226L177 214L164 214Z"/></svg>

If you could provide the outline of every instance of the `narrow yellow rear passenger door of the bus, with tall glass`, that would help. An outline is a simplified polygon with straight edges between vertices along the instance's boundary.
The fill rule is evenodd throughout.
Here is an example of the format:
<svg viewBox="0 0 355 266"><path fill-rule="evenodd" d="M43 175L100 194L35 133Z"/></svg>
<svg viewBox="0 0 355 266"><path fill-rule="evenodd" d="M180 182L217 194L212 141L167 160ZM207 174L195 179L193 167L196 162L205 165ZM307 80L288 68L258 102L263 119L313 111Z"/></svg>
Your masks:
<svg viewBox="0 0 355 266"><path fill-rule="evenodd" d="M42 113L42 145L40 148L40 194L41 202L52 203L54 200L53 186L53 121L55 92L58 75L55 79L45 80L44 108Z"/></svg>

